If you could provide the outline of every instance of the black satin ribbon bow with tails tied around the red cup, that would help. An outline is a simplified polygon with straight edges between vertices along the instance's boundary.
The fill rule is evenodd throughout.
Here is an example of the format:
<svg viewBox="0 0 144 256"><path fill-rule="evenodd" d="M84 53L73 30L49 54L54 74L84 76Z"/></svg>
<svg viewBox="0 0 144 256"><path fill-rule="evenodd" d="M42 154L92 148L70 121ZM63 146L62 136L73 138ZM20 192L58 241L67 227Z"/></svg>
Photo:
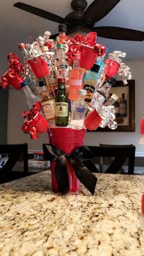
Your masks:
<svg viewBox="0 0 144 256"><path fill-rule="evenodd" d="M45 159L49 161L56 161L54 172L59 192L65 194L70 189L67 172L68 159L73 166L76 177L92 195L94 194L97 178L92 174L88 167L93 166L93 172L96 172L96 168L94 164L92 164L92 161L90 161L90 159L93 158L93 153L88 147L77 147L71 154L66 154L53 145L43 144L43 152ZM84 162L87 164L84 164Z"/></svg>

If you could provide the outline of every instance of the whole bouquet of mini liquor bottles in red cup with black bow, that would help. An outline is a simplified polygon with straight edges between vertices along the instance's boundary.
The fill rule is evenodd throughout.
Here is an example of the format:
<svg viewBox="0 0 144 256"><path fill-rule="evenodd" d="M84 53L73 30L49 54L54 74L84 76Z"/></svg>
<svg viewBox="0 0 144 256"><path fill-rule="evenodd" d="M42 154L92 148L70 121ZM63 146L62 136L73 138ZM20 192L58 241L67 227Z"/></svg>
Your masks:
<svg viewBox="0 0 144 256"><path fill-rule="evenodd" d="M84 136L87 129L99 126L117 128L113 103L118 97L108 93L115 75L126 84L131 71L121 51L104 59L107 48L96 42L96 32L71 38L66 28L59 25L55 41L46 31L33 43L20 43L24 61L8 54L9 70L1 76L1 87L10 85L25 93L30 109L23 112L24 133L37 139L38 133L48 131L49 144L43 144L43 150L51 160L52 189L76 192L81 181L93 194L96 178L84 165L84 159L90 164L92 152L84 147Z"/></svg>

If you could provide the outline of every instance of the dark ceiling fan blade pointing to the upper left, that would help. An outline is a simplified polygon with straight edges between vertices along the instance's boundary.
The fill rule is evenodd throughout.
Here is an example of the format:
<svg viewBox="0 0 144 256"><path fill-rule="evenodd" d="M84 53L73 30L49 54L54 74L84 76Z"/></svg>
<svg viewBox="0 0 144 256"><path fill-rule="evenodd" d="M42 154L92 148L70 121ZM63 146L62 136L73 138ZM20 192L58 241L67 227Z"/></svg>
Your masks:
<svg viewBox="0 0 144 256"><path fill-rule="evenodd" d="M32 14L40 16L42 18L45 18L47 20L51 20L57 23L65 23L65 19L63 19L62 17L51 12L46 12L45 10L41 10L37 7L33 7L29 4L23 4L23 2L16 2L15 4L13 4L13 6L17 7L18 9L25 10L26 12L30 12Z"/></svg>

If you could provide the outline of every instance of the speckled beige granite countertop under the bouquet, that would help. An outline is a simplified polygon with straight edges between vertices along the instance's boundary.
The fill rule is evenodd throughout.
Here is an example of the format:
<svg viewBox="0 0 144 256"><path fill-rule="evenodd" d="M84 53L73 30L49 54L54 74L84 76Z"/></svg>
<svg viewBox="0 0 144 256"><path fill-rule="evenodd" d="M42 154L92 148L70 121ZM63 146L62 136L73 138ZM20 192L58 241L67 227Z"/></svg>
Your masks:
<svg viewBox="0 0 144 256"><path fill-rule="evenodd" d="M54 194L49 170L0 186L0 255L143 256L144 177L96 174L95 195Z"/></svg>

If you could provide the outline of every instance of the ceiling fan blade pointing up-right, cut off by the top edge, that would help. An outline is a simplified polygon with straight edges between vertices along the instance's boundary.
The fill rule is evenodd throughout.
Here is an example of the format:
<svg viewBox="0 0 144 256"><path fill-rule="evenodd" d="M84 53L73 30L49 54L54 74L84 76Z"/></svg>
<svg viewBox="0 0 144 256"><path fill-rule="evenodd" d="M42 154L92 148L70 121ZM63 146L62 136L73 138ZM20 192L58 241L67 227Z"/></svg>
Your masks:
<svg viewBox="0 0 144 256"><path fill-rule="evenodd" d="M95 23L112 10L121 0L95 0L90 4L84 13L84 20Z"/></svg>

